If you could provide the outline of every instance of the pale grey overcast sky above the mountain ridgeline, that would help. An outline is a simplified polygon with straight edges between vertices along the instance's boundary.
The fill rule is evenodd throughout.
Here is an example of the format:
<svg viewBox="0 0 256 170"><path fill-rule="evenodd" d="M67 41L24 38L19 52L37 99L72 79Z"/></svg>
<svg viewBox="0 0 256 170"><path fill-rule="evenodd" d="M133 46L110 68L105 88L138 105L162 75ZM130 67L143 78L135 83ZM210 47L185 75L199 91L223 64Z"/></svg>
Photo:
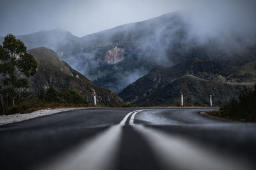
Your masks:
<svg viewBox="0 0 256 170"><path fill-rule="evenodd" d="M0 36L55 28L85 36L189 8L198 0L0 0Z"/></svg>

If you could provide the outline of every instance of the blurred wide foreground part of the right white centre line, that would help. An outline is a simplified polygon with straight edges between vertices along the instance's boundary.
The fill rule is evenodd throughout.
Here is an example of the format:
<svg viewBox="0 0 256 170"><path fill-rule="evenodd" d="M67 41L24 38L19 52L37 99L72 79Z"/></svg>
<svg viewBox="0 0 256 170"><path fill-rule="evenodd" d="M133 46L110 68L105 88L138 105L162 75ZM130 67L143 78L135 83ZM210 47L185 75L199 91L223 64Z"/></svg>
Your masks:
<svg viewBox="0 0 256 170"><path fill-rule="evenodd" d="M134 130L140 132L143 138L147 139L150 148L156 154L156 158L166 169L227 169L244 170L250 166L237 159L217 153L207 146L198 145L194 141L176 135L144 127L134 126Z"/></svg>

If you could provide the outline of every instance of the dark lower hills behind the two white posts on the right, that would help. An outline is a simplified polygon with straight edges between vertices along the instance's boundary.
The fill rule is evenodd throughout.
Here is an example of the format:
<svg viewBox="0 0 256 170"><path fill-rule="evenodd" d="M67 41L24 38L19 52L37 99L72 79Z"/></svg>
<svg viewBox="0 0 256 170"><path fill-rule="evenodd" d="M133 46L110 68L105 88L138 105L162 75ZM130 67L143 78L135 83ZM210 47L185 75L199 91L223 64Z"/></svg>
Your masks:
<svg viewBox="0 0 256 170"><path fill-rule="evenodd" d="M158 67L126 87L119 96L137 106L180 103L223 104L256 82L256 51L250 60L191 59L172 67Z"/></svg>

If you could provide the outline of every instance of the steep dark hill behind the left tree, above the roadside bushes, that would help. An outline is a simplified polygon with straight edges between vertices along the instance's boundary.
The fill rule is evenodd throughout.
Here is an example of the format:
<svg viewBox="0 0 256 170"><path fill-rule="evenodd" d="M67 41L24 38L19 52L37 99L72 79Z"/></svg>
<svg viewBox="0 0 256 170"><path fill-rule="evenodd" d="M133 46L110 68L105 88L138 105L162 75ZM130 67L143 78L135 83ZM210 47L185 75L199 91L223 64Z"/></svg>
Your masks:
<svg viewBox="0 0 256 170"><path fill-rule="evenodd" d="M58 90L76 89L90 104L93 103L93 92L96 92L97 103L101 106L119 106L123 103L115 92L94 85L83 74L63 62L54 51L42 47L28 52L38 62L36 74L29 81L32 90L46 90L53 85Z"/></svg>

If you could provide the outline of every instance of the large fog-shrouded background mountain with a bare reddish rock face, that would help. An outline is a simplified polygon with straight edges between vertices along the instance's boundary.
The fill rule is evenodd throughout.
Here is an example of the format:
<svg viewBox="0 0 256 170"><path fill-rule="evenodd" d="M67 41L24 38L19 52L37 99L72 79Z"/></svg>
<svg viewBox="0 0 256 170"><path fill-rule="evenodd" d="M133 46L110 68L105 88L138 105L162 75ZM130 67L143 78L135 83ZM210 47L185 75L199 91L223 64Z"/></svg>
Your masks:
<svg viewBox="0 0 256 170"><path fill-rule="evenodd" d="M17 38L28 48L51 48L96 85L120 92L155 67L170 67L193 58L240 60L253 54L256 33L246 23L249 19L237 12L232 18L239 22L229 22L231 18L214 18L204 12L167 13L82 38L61 30Z"/></svg>

